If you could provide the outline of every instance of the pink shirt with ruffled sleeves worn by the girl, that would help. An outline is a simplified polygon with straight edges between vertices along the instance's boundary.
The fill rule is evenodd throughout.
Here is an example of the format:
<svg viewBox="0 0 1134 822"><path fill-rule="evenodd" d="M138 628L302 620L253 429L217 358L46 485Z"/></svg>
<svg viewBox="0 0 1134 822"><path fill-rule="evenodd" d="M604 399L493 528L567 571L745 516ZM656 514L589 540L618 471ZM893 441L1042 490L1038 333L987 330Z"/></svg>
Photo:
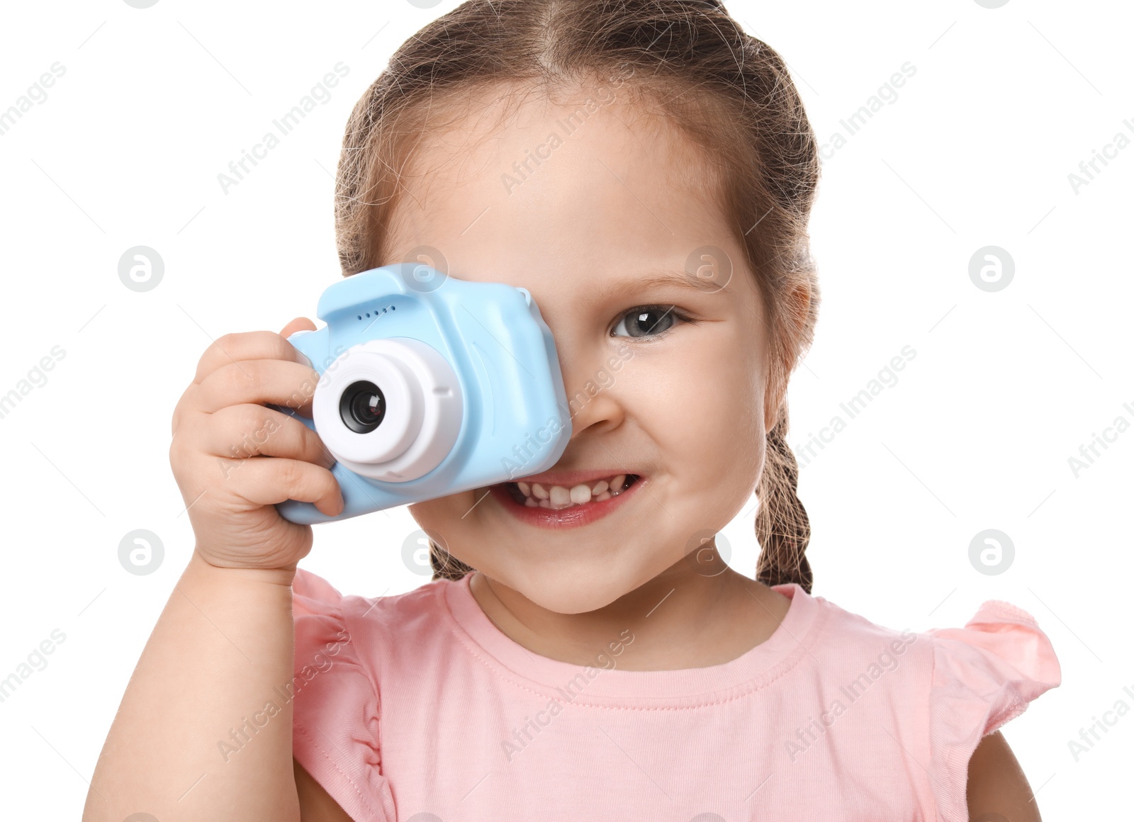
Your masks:
<svg viewBox="0 0 1134 822"><path fill-rule="evenodd" d="M796 585L782 624L710 668L536 655L459 582L342 596L301 569L294 753L357 822L965 822L968 759L1059 684L1035 620L896 632Z"/></svg>

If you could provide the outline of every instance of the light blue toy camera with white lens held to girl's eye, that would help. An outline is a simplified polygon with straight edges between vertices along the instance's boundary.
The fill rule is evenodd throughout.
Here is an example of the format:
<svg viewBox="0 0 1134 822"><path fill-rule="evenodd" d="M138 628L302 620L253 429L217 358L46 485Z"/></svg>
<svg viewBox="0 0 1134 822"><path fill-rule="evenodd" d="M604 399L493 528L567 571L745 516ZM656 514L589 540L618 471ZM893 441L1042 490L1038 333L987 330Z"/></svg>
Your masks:
<svg viewBox="0 0 1134 822"><path fill-rule="evenodd" d="M312 418L345 507L277 506L293 523L346 519L538 474L570 439L555 339L524 288L417 263L323 291L327 325L288 338L320 374Z"/></svg>

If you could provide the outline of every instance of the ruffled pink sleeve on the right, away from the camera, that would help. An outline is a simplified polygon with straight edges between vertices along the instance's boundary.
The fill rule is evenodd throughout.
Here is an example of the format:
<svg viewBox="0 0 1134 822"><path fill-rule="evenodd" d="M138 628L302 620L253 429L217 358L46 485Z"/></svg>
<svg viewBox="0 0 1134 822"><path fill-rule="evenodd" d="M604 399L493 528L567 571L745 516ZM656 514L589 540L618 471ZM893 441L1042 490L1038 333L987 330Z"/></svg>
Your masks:
<svg viewBox="0 0 1134 822"><path fill-rule="evenodd" d="M964 628L937 628L930 689L930 780L941 819L968 819L968 761L980 740L1059 685L1059 661L1026 611L989 601Z"/></svg>

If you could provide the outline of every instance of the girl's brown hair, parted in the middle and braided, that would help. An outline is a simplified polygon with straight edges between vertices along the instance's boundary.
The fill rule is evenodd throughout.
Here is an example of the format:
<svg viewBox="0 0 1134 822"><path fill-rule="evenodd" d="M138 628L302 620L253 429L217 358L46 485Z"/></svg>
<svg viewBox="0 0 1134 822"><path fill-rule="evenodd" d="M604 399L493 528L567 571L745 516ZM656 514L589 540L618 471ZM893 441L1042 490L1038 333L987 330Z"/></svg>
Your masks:
<svg viewBox="0 0 1134 822"><path fill-rule="evenodd" d="M729 219L755 273L769 332L768 391L780 398L756 488L756 578L810 592L811 525L786 435L787 380L812 342L819 308L807 238L818 149L784 60L720 2L468 0L426 25L390 58L347 124L335 209L344 273L383 264L416 144L464 121L476 92L515 103L533 91L615 77L635 110L663 115L701 149L695 179ZM430 562L433 579L472 570L432 542Z"/></svg>

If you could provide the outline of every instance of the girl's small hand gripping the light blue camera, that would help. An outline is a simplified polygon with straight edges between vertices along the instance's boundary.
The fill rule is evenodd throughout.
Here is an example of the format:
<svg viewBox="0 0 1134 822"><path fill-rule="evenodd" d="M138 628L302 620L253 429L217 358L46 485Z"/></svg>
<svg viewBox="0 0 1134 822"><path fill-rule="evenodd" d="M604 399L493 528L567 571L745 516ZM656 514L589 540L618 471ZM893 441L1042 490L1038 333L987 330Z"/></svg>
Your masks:
<svg viewBox="0 0 1134 822"><path fill-rule="evenodd" d="M298 420L271 402L311 416L319 374L287 337L314 323L298 317L280 333L219 338L202 355L193 383L174 409L169 463L188 507L202 559L222 568L282 568L311 550L310 525L284 519L274 503L313 502L342 510L329 468L335 458Z"/></svg>

